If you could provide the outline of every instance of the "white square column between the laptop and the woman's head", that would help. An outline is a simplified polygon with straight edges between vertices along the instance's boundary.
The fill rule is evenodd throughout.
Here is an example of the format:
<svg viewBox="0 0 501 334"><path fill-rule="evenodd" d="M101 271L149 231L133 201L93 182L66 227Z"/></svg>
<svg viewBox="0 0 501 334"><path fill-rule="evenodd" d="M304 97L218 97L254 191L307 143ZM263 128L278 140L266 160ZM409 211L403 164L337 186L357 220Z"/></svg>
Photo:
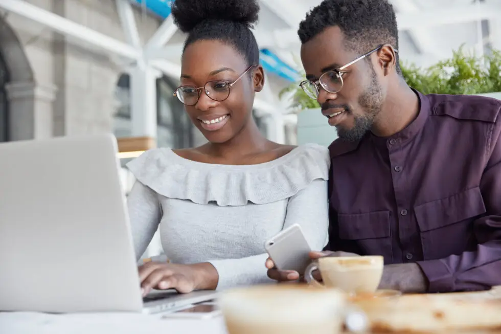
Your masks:
<svg viewBox="0 0 501 334"><path fill-rule="evenodd" d="M133 137L156 138L156 79L159 76L150 66L136 66L130 71Z"/></svg>

